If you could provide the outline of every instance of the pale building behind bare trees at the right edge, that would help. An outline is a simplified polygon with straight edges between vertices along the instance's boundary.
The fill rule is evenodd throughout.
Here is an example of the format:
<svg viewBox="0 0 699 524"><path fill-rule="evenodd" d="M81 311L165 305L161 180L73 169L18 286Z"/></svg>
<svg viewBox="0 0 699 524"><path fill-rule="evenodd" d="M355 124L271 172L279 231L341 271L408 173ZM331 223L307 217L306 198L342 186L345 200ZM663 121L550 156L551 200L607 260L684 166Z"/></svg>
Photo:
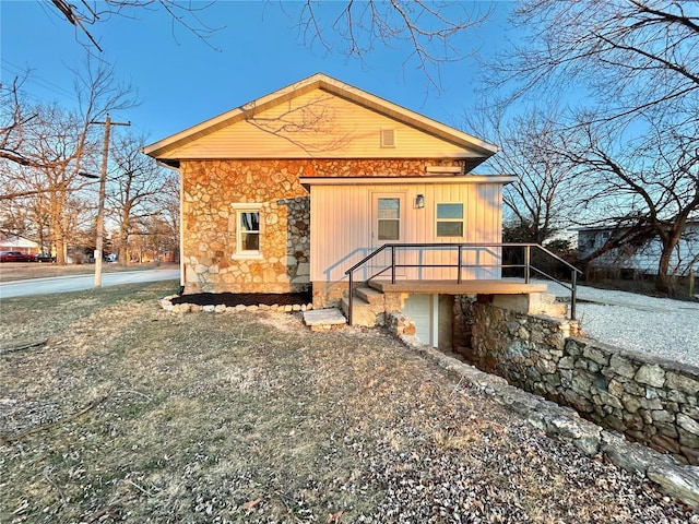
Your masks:
<svg viewBox="0 0 699 524"><path fill-rule="evenodd" d="M600 249L614 235L621 235L625 228L614 225L581 227L578 229L578 257L584 259ZM641 246L627 243L613 249L591 262L593 269L625 273L657 274L662 245L657 237ZM670 261L670 273L687 275L699 271L699 218L687 221L677 247Z"/></svg>

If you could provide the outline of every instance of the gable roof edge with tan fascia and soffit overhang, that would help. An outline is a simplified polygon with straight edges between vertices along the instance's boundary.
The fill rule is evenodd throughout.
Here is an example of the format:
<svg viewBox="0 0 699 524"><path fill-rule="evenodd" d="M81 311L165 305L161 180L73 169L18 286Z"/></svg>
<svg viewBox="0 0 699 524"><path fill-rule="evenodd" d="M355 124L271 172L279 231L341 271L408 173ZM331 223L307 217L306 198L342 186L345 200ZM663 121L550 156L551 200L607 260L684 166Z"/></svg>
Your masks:
<svg viewBox="0 0 699 524"><path fill-rule="evenodd" d="M256 116L259 116L264 111L288 104L291 100L309 95L311 92L317 90L351 104L360 106L369 111L389 118L392 121L400 122L422 133L434 136L443 143L453 145L454 147L452 147L446 156L469 158L471 160L467 166L469 168L473 168L475 165L481 164L498 151L497 146L484 142L471 134L459 131L410 109L405 109L404 107L340 82L325 74L318 73L266 96L218 115L217 117L205 120L197 126L175 133L158 142L150 144L143 148L143 152L165 164L177 166L180 158L187 158L188 156L186 155L191 154L188 153L188 145L191 145L206 136L212 136L213 133L223 132L223 130L230 128L237 122L250 121L251 119L254 119ZM319 155L311 154L309 156L322 157L324 155L321 153Z"/></svg>

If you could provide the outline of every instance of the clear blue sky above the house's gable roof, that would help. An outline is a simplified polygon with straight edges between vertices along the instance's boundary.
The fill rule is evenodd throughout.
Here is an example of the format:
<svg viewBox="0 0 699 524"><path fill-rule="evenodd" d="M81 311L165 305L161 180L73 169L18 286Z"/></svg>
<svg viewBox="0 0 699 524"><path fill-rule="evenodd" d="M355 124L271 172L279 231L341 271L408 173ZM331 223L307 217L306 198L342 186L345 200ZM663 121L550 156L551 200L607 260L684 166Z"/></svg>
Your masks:
<svg viewBox="0 0 699 524"><path fill-rule="evenodd" d="M321 14L344 3L325 1ZM408 46L378 46L364 61L346 58L339 43L331 52L320 46L309 49L297 27L301 5L220 0L201 13L208 25L220 27L209 40L220 50L174 26L162 10L139 10L135 19L112 17L92 26L104 48L98 55L115 66L119 80L135 87L140 99L138 107L112 114L112 119L129 120L134 131L156 141L317 72L455 127L474 107L475 59L442 64L443 90L437 92L414 60L405 63ZM491 52L511 37L506 28L512 2L463 5L481 12L495 9L485 25L454 40L464 53ZM320 20L330 25L334 16ZM49 2L35 0L2 0L0 24L1 82L8 85L31 70L24 90L33 102L74 105L70 69L79 67L86 52L74 28ZM324 34L335 38L330 31Z"/></svg>

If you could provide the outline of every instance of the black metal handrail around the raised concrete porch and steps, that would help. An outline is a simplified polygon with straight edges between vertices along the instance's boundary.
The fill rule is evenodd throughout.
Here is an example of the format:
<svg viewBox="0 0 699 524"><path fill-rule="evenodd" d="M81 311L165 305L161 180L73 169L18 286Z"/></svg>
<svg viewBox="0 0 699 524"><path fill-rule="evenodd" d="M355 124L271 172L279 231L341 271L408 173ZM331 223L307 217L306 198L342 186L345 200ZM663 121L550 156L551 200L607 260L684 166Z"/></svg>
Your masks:
<svg viewBox="0 0 699 524"><path fill-rule="evenodd" d="M453 250L457 249L458 250L458 260L457 260L457 264L396 264L395 263L395 250L396 249L434 249L437 248L439 250ZM523 248L524 249L524 263L523 264L463 264L463 249L485 249L485 248ZM558 278L545 273L544 271L532 266L531 264L531 255L532 255L532 248L535 248L546 254L548 254L550 258L555 259L557 262L562 263L566 267L568 267L570 270L570 285L567 285L566 283L559 281ZM357 262L356 264L354 264L352 267L350 267L347 271L345 271L345 275L347 275L348 277L348 284L350 284L350 289L348 289L348 295L347 295L347 322L350 323L350 325L352 325L352 312L353 312L353 295L354 295L354 272L356 270L358 270L359 267L362 267L363 265L365 265L367 262L369 262L371 259L376 258L379 253L386 251L387 249L391 250L391 264L383 267L381 271L379 271L378 273L372 274L371 276L369 276L367 278L366 282L370 281L371 278L376 278L377 276L383 274L384 272L387 272L389 269L391 270L391 284L395 284L395 269L396 267L457 267L457 283L461 284L462 278L461 278L461 272L463 270L463 267L500 267L500 269L505 269L505 267L523 267L524 269L524 283L529 284L530 279L531 279L531 273L532 271L545 276L546 278L564 286L566 289L569 289L571 291L570 295L570 318L571 320L576 320L576 301L577 301L577 297L578 297L578 274L582 274L582 271L580 271L578 267L576 267L574 265L572 265L571 263L565 261L564 259L561 259L560 257L558 257L557 254L553 253L552 251L549 251L548 249L544 248L543 246L540 246L538 243L525 243L525 242L508 242L508 243L498 243L498 242L494 242L494 243L384 243L383 246L375 249L371 253L369 253L368 255L366 255L364 259L362 259L359 262Z"/></svg>

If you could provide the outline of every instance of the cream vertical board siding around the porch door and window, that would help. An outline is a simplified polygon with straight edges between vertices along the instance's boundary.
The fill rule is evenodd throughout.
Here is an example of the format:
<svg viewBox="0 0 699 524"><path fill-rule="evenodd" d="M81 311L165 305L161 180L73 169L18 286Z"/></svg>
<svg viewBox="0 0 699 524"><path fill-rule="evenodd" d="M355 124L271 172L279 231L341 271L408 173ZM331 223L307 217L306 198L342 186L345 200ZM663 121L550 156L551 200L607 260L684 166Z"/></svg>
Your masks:
<svg viewBox="0 0 699 524"><path fill-rule="evenodd" d="M311 281L337 282L345 271L369 254L371 246L372 193L404 193L403 242L459 243L501 241L501 186L499 183L450 184L377 184L311 187ZM425 207L415 209L417 194L425 195ZM464 203L464 236L437 237L437 203ZM423 249L399 251L399 263L451 264L454 267L407 269L401 275L408 279L455 279L458 252ZM499 250L464 250L464 264L498 264ZM387 251L377 265L388 264ZM495 278L499 270L463 270L463 278ZM357 281L367 278L357 271ZM389 277L387 273L386 277Z"/></svg>

